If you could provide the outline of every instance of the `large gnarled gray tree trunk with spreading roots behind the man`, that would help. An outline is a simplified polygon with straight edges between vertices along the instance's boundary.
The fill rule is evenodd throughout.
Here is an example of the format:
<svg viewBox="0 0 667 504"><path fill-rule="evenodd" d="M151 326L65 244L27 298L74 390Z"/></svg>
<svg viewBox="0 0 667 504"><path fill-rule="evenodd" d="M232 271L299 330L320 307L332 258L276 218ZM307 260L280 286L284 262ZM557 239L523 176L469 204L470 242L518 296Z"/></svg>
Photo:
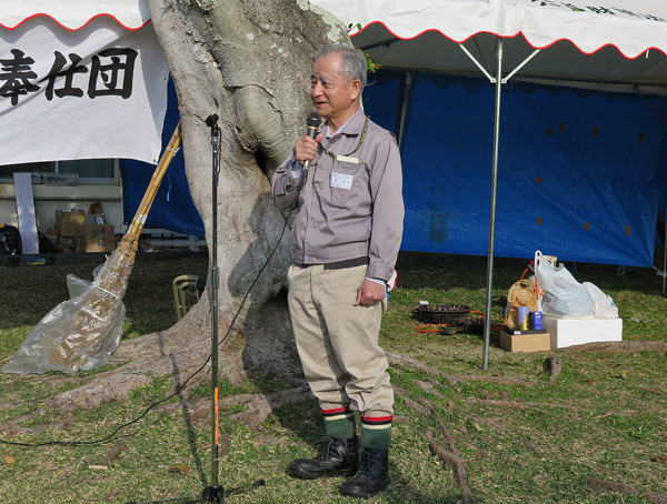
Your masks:
<svg viewBox="0 0 667 504"><path fill-rule="evenodd" d="M327 43L349 43L346 29L306 0L149 0L149 8L176 85L186 173L208 243L215 234L206 119L219 117L220 371L231 381L255 369L296 379L301 372L283 292L291 229L280 240L288 214L273 206L270 180L303 134L312 110L308 91L313 57ZM121 344L112 363L131 362L57 397L56 404L91 406L128 393L153 374L188 376L210 352L210 288L209 278L207 295L170 330Z"/></svg>

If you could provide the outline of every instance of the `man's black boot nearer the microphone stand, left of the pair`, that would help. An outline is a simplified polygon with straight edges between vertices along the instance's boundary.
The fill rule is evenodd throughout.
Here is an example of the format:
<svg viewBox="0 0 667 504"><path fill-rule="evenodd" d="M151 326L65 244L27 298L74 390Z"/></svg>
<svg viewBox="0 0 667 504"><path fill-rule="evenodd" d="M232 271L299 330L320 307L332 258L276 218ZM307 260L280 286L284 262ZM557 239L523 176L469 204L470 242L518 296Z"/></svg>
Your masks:
<svg viewBox="0 0 667 504"><path fill-rule="evenodd" d="M323 476L349 476L359 466L357 436L351 440L325 436L326 445L315 458L297 458L289 464L287 472L302 480Z"/></svg>

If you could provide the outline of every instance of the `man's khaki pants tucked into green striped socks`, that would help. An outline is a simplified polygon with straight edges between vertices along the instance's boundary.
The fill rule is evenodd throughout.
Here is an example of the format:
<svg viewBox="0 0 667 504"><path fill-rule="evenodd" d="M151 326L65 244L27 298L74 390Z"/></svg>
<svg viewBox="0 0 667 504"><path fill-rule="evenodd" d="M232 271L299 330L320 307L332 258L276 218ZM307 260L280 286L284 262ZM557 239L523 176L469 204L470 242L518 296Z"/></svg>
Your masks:
<svg viewBox="0 0 667 504"><path fill-rule="evenodd" d="M303 373L322 410L394 414L385 351L378 344L387 301L354 306L366 265L326 270L292 265L289 314Z"/></svg>

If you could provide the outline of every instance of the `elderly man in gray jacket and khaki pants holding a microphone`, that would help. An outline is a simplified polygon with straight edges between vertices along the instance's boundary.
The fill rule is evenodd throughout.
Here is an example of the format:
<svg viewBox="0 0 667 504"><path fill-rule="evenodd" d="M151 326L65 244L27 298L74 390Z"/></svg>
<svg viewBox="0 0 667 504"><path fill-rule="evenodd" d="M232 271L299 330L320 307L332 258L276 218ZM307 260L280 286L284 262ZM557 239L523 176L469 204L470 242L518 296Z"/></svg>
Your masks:
<svg viewBox="0 0 667 504"><path fill-rule="evenodd" d="M340 491L361 498L389 482L394 393L378 336L404 219L398 147L364 114L365 84L359 51L323 48L310 95L326 122L315 138L297 140L273 175L276 205L299 209L289 313L327 432L316 457L298 458L288 471L302 478L351 475Z"/></svg>

